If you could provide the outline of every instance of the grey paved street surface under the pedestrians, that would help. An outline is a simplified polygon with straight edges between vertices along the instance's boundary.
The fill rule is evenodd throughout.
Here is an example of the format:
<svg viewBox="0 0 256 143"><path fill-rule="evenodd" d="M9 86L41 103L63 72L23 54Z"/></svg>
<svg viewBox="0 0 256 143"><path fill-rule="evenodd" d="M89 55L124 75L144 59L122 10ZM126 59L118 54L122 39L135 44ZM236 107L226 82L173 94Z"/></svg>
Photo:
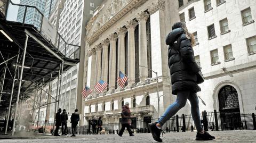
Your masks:
<svg viewBox="0 0 256 143"><path fill-rule="evenodd" d="M215 140L204 142L256 142L256 131L211 131ZM170 132L165 133L163 142L198 142L195 140L196 132ZM133 137L124 133L123 137L117 134L106 135L78 135L77 137L53 137L43 136L37 139L4 139L0 142L155 142L150 133L138 133Z"/></svg>

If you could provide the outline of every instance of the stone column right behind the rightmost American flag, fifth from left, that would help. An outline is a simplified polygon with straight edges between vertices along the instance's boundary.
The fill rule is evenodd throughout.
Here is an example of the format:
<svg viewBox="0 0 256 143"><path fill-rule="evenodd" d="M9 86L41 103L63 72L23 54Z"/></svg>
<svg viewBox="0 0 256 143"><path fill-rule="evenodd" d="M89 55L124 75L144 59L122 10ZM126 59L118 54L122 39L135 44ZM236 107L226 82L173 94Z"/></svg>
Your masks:
<svg viewBox="0 0 256 143"><path fill-rule="evenodd" d="M124 27L118 28L117 35L118 35L118 69L121 70L121 72L125 72L125 43L124 43L124 37L127 29ZM118 70L118 71L119 71ZM118 75L119 72L116 74ZM118 87L117 89L120 91L121 89Z"/></svg>

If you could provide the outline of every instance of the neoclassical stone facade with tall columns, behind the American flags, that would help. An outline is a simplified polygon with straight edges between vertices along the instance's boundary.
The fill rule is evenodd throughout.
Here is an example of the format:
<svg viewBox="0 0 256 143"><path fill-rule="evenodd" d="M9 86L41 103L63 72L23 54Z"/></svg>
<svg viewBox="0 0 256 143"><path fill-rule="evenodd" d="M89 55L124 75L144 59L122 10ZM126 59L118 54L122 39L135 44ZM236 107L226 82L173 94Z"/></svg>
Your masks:
<svg viewBox="0 0 256 143"><path fill-rule="evenodd" d="M85 83L93 93L84 101L84 124L93 116L103 122L119 122L122 106L130 103L133 119L158 117L173 100L167 68L164 1L105 1L87 23ZM164 53L164 54L162 54ZM154 72L152 72L151 70ZM117 85L119 71L129 78ZM108 88L94 91L102 79ZM163 102L166 100L167 102Z"/></svg>

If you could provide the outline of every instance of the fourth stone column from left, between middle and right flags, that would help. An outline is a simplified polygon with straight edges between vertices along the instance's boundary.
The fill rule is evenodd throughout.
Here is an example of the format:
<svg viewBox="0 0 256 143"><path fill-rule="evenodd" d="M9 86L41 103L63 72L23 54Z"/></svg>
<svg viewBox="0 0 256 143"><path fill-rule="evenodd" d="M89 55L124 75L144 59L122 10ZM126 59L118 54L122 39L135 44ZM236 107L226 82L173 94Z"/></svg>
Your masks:
<svg viewBox="0 0 256 143"><path fill-rule="evenodd" d="M116 83L116 40L117 35L112 33L109 35L110 40L110 55L109 55L109 91L108 94L113 93Z"/></svg>

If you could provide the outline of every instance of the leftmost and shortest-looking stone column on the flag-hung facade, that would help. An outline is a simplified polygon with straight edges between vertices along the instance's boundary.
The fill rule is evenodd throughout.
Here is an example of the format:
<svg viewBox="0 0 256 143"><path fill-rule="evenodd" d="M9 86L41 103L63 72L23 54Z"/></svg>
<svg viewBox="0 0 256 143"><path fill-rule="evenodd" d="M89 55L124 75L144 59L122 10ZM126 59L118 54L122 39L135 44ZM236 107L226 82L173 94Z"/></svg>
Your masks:
<svg viewBox="0 0 256 143"><path fill-rule="evenodd" d="M90 77L90 88L92 89L92 91L93 91L93 93L92 93L92 95L93 94L95 94L95 92L94 92L94 86L95 86L95 83L97 82L97 77L95 77L95 75L97 75L96 74L96 72L98 72L98 71L96 71L96 69L97 69L97 64L96 64L96 50L95 50L95 48L92 48L92 49L90 49L90 51L89 51L89 53L88 53L89 55L89 57L90 56L92 56L92 60L91 60L91 77ZM87 78L89 78L89 77L87 77Z"/></svg>

